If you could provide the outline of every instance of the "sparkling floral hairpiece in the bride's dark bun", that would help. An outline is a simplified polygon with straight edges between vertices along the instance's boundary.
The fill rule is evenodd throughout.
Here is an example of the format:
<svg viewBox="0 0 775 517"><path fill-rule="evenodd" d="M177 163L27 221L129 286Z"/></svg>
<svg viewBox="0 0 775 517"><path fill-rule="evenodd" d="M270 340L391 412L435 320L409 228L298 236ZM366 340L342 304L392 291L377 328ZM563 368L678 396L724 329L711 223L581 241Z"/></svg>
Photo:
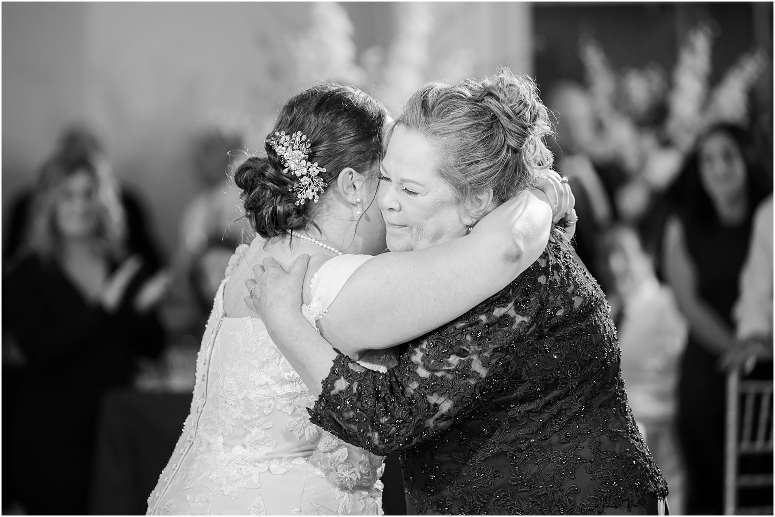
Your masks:
<svg viewBox="0 0 775 517"><path fill-rule="evenodd" d="M298 198L296 205L303 205L305 200L312 200L317 203L320 199L320 194L323 193L323 189L329 186L318 175L321 172L325 172L325 167L319 167L318 162L310 163L309 161L309 149L311 147L307 135L302 134L301 131L296 131L292 135L285 134L285 131L275 132L275 135L279 137L279 140L275 137L267 139L269 144L277 156L280 157L280 161L285 168L283 172L296 175L298 182L295 183L292 189L288 189L290 192L296 194Z"/></svg>

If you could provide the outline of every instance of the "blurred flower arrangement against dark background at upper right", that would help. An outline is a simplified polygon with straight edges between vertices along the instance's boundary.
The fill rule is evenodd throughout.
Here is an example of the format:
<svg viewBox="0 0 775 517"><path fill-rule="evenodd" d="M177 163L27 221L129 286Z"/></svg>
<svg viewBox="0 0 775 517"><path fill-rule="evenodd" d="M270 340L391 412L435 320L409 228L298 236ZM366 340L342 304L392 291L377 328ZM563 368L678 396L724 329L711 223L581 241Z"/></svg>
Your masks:
<svg viewBox="0 0 775 517"><path fill-rule="evenodd" d="M641 217L651 193L670 185L705 128L748 121L748 93L764 71L766 57L761 50L743 54L710 88L712 39L707 25L691 30L671 85L653 64L617 73L598 42L580 41L598 127L586 151L593 161L616 165L626 176L616 203L627 220Z"/></svg>

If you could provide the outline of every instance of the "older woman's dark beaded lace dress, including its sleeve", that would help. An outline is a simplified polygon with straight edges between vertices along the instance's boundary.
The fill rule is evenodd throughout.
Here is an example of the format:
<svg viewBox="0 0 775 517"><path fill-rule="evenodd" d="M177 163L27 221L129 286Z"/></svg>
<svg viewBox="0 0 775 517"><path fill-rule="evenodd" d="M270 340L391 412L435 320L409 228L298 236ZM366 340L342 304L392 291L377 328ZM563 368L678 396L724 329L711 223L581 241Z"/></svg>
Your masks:
<svg viewBox="0 0 775 517"><path fill-rule="evenodd" d="M609 312L553 238L387 373L339 354L312 422L376 454L401 451L420 514L642 511L667 484L627 405Z"/></svg>

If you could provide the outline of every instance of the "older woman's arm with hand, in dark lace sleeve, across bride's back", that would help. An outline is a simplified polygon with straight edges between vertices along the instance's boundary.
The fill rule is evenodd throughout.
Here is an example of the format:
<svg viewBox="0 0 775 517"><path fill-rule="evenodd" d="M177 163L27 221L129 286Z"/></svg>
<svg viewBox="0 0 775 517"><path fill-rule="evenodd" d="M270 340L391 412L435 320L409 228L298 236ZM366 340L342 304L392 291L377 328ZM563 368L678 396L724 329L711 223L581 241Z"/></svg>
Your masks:
<svg viewBox="0 0 775 517"><path fill-rule="evenodd" d="M267 300L267 290L292 293L301 286L305 259L294 262L291 274L267 264L257 289L259 311L274 343L319 395L311 421L346 442L379 455L414 446L466 418L480 407L480 395L492 396L521 367L516 346L535 325L540 304L505 297L416 340L387 372L367 369L332 349L301 314L277 310L298 294ZM545 285L545 277L530 275L518 296L546 297ZM518 315L516 306L522 307Z"/></svg>

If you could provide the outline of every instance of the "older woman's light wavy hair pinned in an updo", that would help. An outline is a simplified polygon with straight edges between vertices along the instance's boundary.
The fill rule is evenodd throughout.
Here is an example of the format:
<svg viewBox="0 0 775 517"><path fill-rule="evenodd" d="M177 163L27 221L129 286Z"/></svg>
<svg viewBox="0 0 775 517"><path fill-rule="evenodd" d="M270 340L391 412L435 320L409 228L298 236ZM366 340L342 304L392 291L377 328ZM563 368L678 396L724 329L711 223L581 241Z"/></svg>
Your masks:
<svg viewBox="0 0 775 517"><path fill-rule="evenodd" d="M538 88L508 68L483 81L423 86L398 124L436 145L436 170L464 203L492 189L494 203L501 204L533 186L536 170L552 165L544 138L553 130Z"/></svg>

